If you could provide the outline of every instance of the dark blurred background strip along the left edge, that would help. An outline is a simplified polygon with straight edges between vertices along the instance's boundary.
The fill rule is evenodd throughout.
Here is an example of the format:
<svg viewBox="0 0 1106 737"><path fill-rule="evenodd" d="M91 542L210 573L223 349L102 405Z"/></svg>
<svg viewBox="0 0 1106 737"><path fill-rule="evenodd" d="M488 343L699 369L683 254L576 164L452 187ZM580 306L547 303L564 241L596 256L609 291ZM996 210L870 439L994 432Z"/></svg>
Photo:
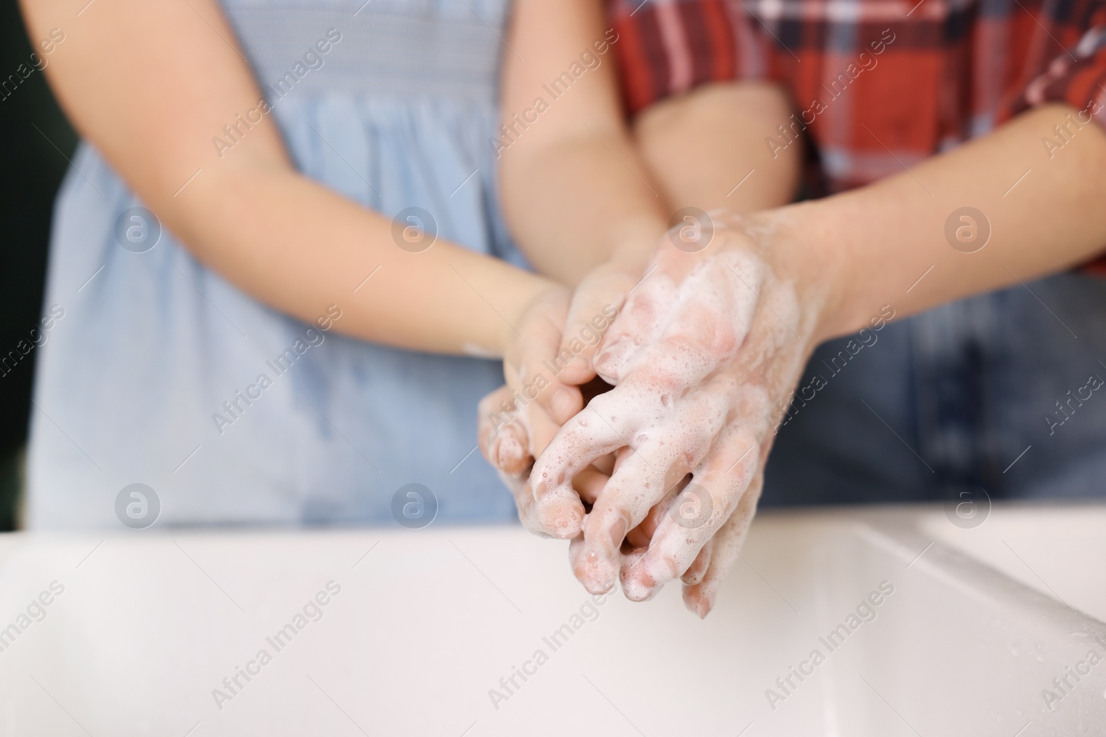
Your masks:
<svg viewBox="0 0 1106 737"><path fill-rule="evenodd" d="M15 72L30 57L18 3L0 0L0 82L8 83L0 87L0 358L39 319L50 213L76 146L42 73L24 80ZM0 375L0 531L18 520L36 352Z"/></svg>

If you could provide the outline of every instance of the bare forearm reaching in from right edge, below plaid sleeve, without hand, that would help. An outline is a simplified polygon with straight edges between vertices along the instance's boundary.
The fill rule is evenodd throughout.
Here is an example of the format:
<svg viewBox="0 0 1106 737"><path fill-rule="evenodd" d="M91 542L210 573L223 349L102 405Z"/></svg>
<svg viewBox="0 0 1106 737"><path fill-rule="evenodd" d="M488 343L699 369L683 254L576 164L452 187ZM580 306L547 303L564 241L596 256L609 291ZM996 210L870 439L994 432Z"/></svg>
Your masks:
<svg viewBox="0 0 1106 737"><path fill-rule="evenodd" d="M1067 113L1075 116L1064 106L1030 110L909 172L770 215L800 239L793 254L778 255L833 284L820 337L863 327L884 304L909 315L1062 271L1106 246L1106 133L1083 125L1052 158L1042 145L1057 140L1053 126ZM957 250L946 238L963 207L991 231L973 253L964 251L980 241ZM970 225L957 220L952 231L966 227L969 238Z"/></svg>

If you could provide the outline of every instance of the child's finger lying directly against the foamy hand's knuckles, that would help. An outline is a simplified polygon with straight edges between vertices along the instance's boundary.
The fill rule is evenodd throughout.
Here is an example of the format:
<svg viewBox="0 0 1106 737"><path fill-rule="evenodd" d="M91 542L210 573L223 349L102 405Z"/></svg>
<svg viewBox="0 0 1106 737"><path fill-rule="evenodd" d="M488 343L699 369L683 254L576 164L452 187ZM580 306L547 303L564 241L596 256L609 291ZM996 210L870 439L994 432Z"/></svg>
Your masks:
<svg viewBox="0 0 1106 737"><path fill-rule="evenodd" d="M601 266L576 286L555 361L563 367L562 381L578 385L595 376L595 350L639 278L623 269Z"/></svg>

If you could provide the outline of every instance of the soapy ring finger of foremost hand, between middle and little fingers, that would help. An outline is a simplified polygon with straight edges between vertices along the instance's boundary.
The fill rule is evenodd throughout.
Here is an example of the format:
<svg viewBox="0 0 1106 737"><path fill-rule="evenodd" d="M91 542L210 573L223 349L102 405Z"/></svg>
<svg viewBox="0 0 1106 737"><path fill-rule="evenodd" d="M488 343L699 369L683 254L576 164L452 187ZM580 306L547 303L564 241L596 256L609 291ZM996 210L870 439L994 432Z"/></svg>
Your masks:
<svg viewBox="0 0 1106 737"><path fill-rule="evenodd" d="M737 507L760 468L757 436L744 425L730 425L719 445L696 470L672 513L660 520L649 550L624 575L624 590L634 600L682 576Z"/></svg>

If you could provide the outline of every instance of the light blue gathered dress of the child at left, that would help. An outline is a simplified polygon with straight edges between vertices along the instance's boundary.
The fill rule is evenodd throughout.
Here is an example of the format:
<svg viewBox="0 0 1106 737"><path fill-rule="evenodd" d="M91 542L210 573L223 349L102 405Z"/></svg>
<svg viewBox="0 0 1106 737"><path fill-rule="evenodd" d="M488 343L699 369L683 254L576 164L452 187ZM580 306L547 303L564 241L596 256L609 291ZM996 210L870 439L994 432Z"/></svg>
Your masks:
<svg viewBox="0 0 1106 737"><path fill-rule="evenodd" d="M489 145L505 0L362 3L225 2L296 167L388 217L425 208L440 238L522 264L498 213ZM341 40L316 52L322 65L300 67L290 91L272 86L299 74L330 29ZM30 527L116 527L115 497L132 483L157 492L159 525L394 524L392 496L411 482L438 496L439 520L514 518L473 452L476 406L502 383L498 362L330 330L280 375L270 362L307 326L167 232L145 253L122 248L116 219L142 203L92 147L74 165L54 215L46 310L64 316L39 349ZM349 274L338 309L389 277L354 293L368 273ZM223 402L261 373L272 387L217 428L212 414L231 417Z"/></svg>

